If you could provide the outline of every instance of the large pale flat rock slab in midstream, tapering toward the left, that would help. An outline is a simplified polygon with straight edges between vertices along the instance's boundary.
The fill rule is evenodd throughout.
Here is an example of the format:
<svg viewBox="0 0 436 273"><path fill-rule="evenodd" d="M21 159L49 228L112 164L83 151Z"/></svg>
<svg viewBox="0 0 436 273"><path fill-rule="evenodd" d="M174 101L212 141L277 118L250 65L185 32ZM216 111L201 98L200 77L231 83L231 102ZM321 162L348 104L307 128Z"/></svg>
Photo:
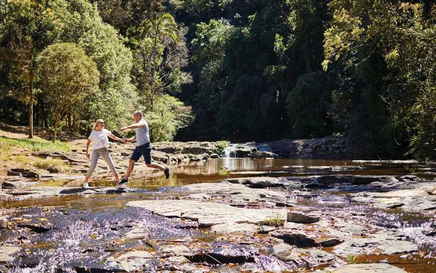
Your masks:
<svg viewBox="0 0 436 273"><path fill-rule="evenodd" d="M150 210L152 213L182 219L198 221L200 227L211 227L219 224L259 224L271 219L287 219L284 209L245 209L228 204L202 202L194 200L143 200L130 201L128 206Z"/></svg>

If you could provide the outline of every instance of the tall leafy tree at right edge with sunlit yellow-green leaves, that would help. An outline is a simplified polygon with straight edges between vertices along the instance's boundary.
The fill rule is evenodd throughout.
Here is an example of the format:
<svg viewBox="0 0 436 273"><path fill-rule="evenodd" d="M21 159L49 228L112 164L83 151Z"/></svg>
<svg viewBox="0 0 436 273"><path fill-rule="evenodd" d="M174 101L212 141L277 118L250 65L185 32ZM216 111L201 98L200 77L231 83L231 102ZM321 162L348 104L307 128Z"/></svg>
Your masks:
<svg viewBox="0 0 436 273"><path fill-rule="evenodd" d="M378 141L390 131L391 142L410 143L410 154L434 158L436 5L335 0L329 6L333 20L325 32L324 68L339 63L353 78L369 76L363 90L373 99L367 105L376 113L372 123L383 115L370 107L389 111L385 125L374 131ZM373 73L377 66L382 73Z"/></svg>

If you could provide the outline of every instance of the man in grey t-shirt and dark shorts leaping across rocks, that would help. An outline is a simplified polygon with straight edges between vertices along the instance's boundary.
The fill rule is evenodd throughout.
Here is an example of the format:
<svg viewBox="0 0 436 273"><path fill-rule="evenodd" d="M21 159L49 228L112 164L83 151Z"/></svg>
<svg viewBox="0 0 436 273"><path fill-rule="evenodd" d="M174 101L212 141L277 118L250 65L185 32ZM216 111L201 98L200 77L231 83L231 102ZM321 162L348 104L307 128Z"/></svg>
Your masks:
<svg viewBox="0 0 436 273"><path fill-rule="evenodd" d="M119 184L121 185L129 183L129 175L132 172L133 167L135 166L135 162L137 162L141 158L141 156L144 157L145 165L147 167L159 169L163 171L163 173L165 173L165 177L167 179L170 178L170 168L162 167L161 165L156 163L151 163L151 146L150 135L148 133L148 123L145 119L142 118L142 112L139 110L135 111L133 113L133 119L136 123L120 128L121 131L127 129L135 129L135 137L132 137L130 139L123 138L123 140L126 142L136 141L136 148L135 151L133 151L132 157L130 158L129 167L127 168L126 175L124 175L124 178L120 181Z"/></svg>

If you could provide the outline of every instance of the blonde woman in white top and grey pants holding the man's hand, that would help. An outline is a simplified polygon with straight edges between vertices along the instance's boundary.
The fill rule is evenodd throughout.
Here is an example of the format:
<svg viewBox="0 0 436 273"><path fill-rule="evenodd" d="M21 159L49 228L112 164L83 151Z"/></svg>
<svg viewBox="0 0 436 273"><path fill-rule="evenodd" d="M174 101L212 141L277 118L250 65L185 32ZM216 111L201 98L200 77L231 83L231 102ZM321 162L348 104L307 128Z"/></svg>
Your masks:
<svg viewBox="0 0 436 273"><path fill-rule="evenodd" d="M110 137L113 140L124 142L122 139L117 138L112 134L110 130L104 129L104 121L102 119L97 119L95 121L94 129L89 135L88 142L86 143L86 157L89 159L89 144L92 142L92 158L91 165L89 166L88 172L85 175L85 182L83 183L83 188L88 188L88 180L91 176L92 172L97 165L97 160L101 156L104 161L106 161L107 166L111 169L112 174L115 177L117 182L120 182L120 178L118 177L117 169L115 169L114 162L112 161L111 155L107 148L109 147L109 140L107 137Z"/></svg>

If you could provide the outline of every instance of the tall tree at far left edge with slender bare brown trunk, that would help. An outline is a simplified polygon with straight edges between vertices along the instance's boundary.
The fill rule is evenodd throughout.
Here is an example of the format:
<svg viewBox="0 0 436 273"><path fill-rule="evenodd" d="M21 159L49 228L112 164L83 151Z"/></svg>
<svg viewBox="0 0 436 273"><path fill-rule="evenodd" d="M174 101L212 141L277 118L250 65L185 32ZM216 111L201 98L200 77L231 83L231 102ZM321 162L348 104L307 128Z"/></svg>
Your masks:
<svg viewBox="0 0 436 273"><path fill-rule="evenodd" d="M0 60L13 63L11 77L20 82L16 97L28 104L29 138L33 138L35 58L50 41L46 35L51 23L44 2L2 0L0 2ZM25 89L25 92L22 92Z"/></svg>

